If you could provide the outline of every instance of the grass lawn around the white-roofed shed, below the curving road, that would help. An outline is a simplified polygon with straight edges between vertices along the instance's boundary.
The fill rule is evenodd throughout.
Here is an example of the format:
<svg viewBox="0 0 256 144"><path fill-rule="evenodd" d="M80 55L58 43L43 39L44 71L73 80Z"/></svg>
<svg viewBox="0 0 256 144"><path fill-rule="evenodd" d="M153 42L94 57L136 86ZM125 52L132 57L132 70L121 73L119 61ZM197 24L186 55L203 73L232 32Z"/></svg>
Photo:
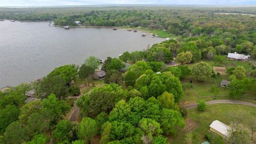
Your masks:
<svg viewBox="0 0 256 144"><path fill-rule="evenodd" d="M242 117L244 126L249 125L249 119L253 118L256 121L256 108L233 105L233 104L216 104L207 106L206 111L199 112L196 108L189 109L186 118L195 121L198 125L190 132L193 133L193 143L201 143L205 141L205 133L209 130L209 125L214 120L219 120L222 123L230 125L234 119ZM174 137L168 137L171 143L185 143L185 132L180 131ZM256 142L256 134L254 134L254 142Z"/></svg>

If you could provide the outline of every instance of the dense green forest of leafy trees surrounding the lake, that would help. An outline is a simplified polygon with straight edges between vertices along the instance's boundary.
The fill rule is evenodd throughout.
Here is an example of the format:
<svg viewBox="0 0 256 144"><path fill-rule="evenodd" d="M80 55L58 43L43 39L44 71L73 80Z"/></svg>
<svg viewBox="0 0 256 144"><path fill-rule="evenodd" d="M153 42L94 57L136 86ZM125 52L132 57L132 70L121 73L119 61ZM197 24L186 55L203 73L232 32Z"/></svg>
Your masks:
<svg viewBox="0 0 256 144"><path fill-rule="evenodd" d="M179 106L187 97L185 90L192 90L196 82L204 85L222 78L209 63L226 68L229 52L256 59L256 17L217 12L256 14L254 7L0 8L0 19L53 20L70 26L79 20L85 26L165 29L178 36L147 50L108 57L101 68L106 71L102 81L93 80L100 63L89 57L82 66L61 66L39 82L0 92L0 143L169 143L167 137L174 138L185 127L188 110ZM179 66L170 67L174 59ZM131 66L121 74L125 63ZM227 66L225 78L232 89L226 91L232 99L249 93L255 100L256 68L243 65ZM190 82L184 83L188 77ZM36 100L25 103L30 90ZM68 97L77 95L70 102ZM70 122L75 108L80 109L79 119ZM198 111L205 110L200 101ZM235 134L234 139L208 135L207 140L235 143L237 137L251 142L246 135Z"/></svg>

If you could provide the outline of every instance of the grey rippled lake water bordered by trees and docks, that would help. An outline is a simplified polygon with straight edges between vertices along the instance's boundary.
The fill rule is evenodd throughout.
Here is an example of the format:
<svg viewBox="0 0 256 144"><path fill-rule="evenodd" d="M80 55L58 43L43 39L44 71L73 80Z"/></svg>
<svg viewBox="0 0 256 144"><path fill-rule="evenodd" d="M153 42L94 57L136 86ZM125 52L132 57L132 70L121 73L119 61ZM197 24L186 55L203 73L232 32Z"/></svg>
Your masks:
<svg viewBox="0 0 256 144"><path fill-rule="evenodd" d="M0 87L28 83L54 68L106 59L164 41L125 29L50 27L48 22L0 21Z"/></svg>

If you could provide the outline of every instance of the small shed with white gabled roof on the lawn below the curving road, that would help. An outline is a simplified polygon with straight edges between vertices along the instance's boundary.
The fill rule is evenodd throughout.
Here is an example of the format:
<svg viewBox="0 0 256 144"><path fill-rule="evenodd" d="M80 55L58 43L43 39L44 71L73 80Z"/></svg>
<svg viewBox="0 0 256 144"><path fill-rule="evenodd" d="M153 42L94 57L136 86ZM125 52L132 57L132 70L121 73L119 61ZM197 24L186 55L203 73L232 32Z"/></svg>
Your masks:
<svg viewBox="0 0 256 144"><path fill-rule="evenodd" d="M222 138L228 137L228 131L230 129L231 128L228 125L223 124L218 120L213 121L212 124L210 125L210 131L220 135Z"/></svg>

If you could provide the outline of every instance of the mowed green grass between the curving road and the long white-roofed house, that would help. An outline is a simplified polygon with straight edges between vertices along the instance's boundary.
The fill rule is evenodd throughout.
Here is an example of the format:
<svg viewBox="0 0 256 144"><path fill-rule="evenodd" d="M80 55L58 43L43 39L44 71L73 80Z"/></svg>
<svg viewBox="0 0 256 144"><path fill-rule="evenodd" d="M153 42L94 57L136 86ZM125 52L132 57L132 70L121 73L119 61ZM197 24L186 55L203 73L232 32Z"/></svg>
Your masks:
<svg viewBox="0 0 256 144"><path fill-rule="evenodd" d="M215 63L212 60L201 60L203 62L209 63L211 66L217 66L217 67L237 67L237 66L243 66L246 70L247 77L253 78L250 74L252 71L255 71L255 69L252 69L252 63L250 61L242 62L242 61L234 61L234 60L226 60L225 64L218 64ZM188 67L191 69L195 63L190 63ZM182 81L182 84L190 83L192 81L192 87L189 89L184 89L184 97L180 100L179 105L189 105L191 103L197 103L199 100L213 100L213 96L223 96L223 97L217 97L217 99L233 99L230 97L229 93L230 90L226 87L221 87L220 82L222 79L228 79L228 75L220 75L216 77L211 77L209 81L206 82L197 82L194 78L189 77L186 80ZM212 96L209 98L205 98L207 96ZM243 98L253 98L256 99L256 92L253 90L247 91L245 94L243 94ZM247 99L242 99L247 100ZM253 101L252 102L256 102Z"/></svg>

